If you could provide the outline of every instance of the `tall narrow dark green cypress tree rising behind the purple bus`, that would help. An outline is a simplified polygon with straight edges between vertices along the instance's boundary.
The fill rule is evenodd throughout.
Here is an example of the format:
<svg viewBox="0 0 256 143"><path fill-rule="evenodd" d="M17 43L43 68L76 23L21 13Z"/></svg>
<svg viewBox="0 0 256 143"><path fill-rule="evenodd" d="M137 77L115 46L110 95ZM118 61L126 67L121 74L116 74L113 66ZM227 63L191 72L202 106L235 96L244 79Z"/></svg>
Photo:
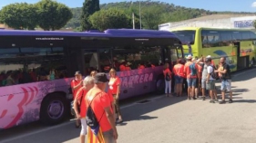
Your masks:
<svg viewBox="0 0 256 143"><path fill-rule="evenodd" d="M82 30L86 31L92 28L92 24L89 21L89 16L97 11L99 11L99 0L85 0L80 18Z"/></svg>

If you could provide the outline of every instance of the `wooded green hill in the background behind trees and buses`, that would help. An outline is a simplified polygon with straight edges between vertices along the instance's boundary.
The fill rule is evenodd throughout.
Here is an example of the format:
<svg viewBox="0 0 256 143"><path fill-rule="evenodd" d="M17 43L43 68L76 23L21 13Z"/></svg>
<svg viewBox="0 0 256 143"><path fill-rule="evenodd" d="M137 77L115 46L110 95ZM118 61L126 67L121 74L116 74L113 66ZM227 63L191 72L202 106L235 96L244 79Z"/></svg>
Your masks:
<svg viewBox="0 0 256 143"><path fill-rule="evenodd" d="M253 13L244 13L244 12L212 12L209 10L199 9L199 8L188 8L179 5L168 4L164 2L152 2L144 1L140 2L141 5L141 16L142 24L146 24L147 16L150 17L148 13L152 13L151 17L159 21L159 24L168 23L168 22L179 22L183 20L188 20L192 18L197 18L209 14L253 14ZM138 19L139 15L139 2L119 2L119 3L108 3L100 5L101 9L109 8L118 8L128 12L128 14L135 13L136 18ZM68 22L66 27L77 28L79 27L79 18L82 12L81 7L72 8L73 18ZM148 18L149 20L149 18ZM147 25L145 25L147 26ZM144 27L145 27L144 26ZM157 27L158 25L155 25Z"/></svg>

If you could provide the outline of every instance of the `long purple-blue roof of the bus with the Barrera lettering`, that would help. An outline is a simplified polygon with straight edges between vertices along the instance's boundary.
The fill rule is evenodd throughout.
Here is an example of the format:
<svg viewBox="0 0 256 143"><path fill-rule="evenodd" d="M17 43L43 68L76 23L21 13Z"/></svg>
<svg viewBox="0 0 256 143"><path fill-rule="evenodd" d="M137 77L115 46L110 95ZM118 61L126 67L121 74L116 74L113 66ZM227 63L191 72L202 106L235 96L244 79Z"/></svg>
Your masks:
<svg viewBox="0 0 256 143"><path fill-rule="evenodd" d="M81 36L81 37L144 37L144 38L177 38L174 33L156 30L134 29L108 29L104 33L98 32L60 32L60 31L25 31L25 30L1 30L0 36Z"/></svg>

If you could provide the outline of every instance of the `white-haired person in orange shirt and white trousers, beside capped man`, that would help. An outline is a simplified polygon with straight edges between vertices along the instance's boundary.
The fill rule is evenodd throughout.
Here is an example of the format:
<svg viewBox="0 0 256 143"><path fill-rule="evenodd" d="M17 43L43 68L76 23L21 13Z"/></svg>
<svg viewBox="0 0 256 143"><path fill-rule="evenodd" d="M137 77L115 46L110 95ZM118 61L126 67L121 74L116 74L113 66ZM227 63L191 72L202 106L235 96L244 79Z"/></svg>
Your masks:
<svg viewBox="0 0 256 143"><path fill-rule="evenodd" d="M81 120L81 132L80 132L80 140L81 143L86 142L87 135L87 105L86 105L86 95L87 91L94 87L94 78L91 76L87 76L83 81L83 87L77 91L76 99L74 100L74 110L76 112L77 119ZM78 104L80 105L78 107Z"/></svg>

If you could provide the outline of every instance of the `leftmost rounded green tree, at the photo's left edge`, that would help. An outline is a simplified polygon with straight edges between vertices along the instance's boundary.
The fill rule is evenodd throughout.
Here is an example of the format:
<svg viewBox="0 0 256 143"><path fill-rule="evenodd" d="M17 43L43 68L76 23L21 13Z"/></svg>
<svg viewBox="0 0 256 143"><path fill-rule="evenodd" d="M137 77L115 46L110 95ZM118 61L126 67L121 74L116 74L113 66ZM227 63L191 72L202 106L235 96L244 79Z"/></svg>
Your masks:
<svg viewBox="0 0 256 143"><path fill-rule="evenodd" d="M15 3L2 8L0 21L14 29L34 30L37 25L36 5Z"/></svg>

